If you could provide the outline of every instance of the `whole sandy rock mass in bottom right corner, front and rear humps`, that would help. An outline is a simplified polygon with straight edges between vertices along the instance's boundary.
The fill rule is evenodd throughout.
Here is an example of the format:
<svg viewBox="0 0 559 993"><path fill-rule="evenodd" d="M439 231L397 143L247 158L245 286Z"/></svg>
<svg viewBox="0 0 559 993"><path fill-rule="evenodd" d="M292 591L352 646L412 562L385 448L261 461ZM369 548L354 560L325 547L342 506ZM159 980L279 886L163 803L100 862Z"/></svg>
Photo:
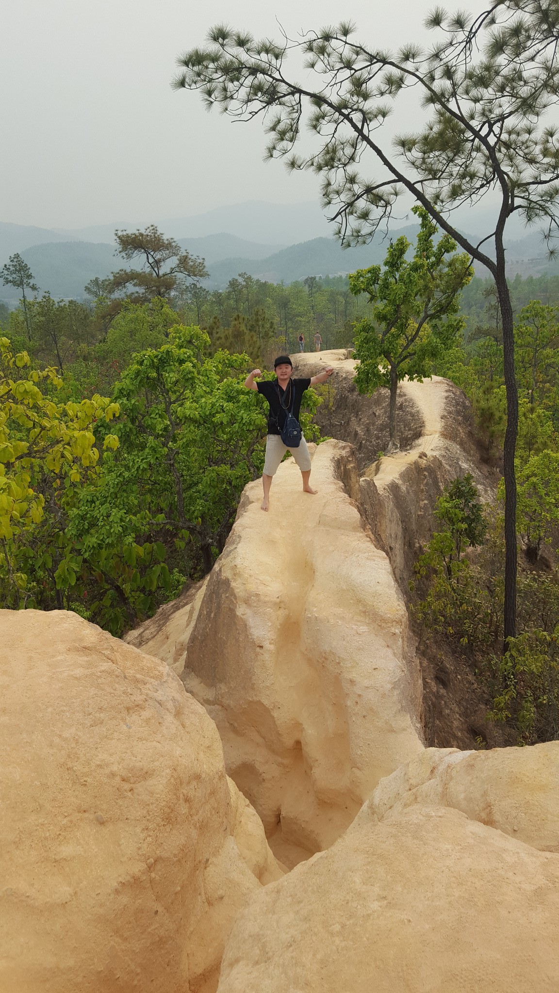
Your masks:
<svg viewBox="0 0 559 993"><path fill-rule="evenodd" d="M559 742L426 749L327 852L258 894L219 993L552 993Z"/></svg>

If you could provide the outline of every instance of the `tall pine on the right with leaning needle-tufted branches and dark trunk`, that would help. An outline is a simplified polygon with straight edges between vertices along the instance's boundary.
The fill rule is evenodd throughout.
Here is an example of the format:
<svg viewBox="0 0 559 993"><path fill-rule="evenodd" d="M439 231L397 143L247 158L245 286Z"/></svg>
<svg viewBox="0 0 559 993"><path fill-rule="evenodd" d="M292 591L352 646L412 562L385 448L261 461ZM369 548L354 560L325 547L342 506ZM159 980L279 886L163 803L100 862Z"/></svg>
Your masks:
<svg viewBox="0 0 559 993"><path fill-rule="evenodd" d="M407 194L490 272L507 397L506 640L516 630L518 398L503 237L515 213L527 224L541 221L548 238L558 230L559 145L551 115L559 100L559 7L556 0L491 0L477 15L437 7L427 27L437 32L427 50L413 40L392 53L359 43L348 22L279 43L219 25L205 48L181 56L175 85L201 90L208 106L217 103L237 118L265 120L269 156L320 177L323 202L344 240L370 239ZM305 59L303 82L286 69L293 53ZM410 89L420 97L417 125L399 132L392 118L400 106L408 115ZM300 155L294 146L307 122L318 147ZM365 171L367 163L376 173ZM469 238L451 212L486 195L497 197L494 219L479 240Z"/></svg>

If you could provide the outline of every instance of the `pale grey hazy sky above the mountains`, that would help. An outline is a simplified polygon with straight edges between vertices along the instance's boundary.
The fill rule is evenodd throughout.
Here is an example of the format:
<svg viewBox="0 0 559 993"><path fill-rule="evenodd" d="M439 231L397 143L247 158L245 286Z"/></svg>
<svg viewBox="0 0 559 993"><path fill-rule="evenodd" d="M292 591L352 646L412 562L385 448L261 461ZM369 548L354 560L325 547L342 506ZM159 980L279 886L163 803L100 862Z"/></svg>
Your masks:
<svg viewBox="0 0 559 993"><path fill-rule="evenodd" d="M260 124L174 92L175 59L227 21L256 35L352 18L371 44L417 39L432 0L26 0L3 5L0 220L79 227L318 196L263 162ZM451 4L451 9L455 8ZM470 9L479 9L469 0Z"/></svg>

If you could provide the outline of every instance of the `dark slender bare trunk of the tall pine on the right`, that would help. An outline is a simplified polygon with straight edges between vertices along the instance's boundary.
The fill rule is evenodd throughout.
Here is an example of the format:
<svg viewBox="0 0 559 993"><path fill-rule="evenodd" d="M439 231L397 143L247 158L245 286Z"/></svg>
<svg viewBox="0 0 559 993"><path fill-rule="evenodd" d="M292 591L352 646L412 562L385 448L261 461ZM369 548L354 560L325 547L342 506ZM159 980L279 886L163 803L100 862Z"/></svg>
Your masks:
<svg viewBox="0 0 559 993"><path fill-rule="evenodd" d="M502 261L497 249L495 281L499 295L502 318L502 346L504 358L504 384L506 387L506 433L503 450L504 476L504 617L503 634L506 650L508 638L516 635L516 476L514 453L518 433L518 390L514 374L514 335L512 306ZM500 264L499 264L500 263Z"/></svg>

